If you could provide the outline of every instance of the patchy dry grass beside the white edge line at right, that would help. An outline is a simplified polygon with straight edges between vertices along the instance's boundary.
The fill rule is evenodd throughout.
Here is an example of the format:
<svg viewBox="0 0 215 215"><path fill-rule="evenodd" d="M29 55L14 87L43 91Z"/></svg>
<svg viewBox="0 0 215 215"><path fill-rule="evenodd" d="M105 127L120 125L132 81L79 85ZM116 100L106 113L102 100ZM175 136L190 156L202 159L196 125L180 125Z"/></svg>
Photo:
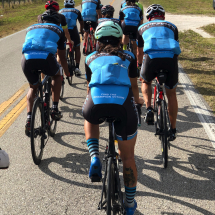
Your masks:
<svg viewBox="0 0 215 215"><path fill-rule="evenodd" d="M179 38L179 62L215 114L215 39L205 39L191 30L180 32Z"/></svg>

